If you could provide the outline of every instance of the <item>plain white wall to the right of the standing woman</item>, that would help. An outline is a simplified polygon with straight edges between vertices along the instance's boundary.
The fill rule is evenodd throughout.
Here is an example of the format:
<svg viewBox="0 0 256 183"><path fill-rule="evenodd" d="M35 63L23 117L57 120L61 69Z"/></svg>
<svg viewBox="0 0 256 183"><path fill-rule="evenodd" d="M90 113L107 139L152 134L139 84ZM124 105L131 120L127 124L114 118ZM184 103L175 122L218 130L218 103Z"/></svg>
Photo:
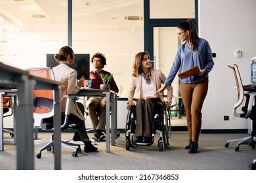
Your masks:
<svg viewBox="0 0 256 183"><path fill-rule="evenodd" d="M215 65L209 74L209 92L203 105L202 129L246 129L247 120L232 117L236 102L235 82L228 63L236 63L244 84L250 82L251 58L255 50L255 0L199 1L200 37L209 41ZM234 52L242 50L242 58ZM223 116L230 116L224 121Z"/></svg>

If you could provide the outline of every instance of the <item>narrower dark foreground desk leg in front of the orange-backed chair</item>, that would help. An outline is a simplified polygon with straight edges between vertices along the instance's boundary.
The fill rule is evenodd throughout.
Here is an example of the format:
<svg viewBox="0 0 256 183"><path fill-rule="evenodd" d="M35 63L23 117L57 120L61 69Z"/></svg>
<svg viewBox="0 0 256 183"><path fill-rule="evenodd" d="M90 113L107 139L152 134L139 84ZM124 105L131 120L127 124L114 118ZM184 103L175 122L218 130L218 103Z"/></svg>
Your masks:
<svg viewBox="0 0 256 183"><path fill-rule="evenodd" d="M60 88L54 90L54 169L61 169Z"/></svg>

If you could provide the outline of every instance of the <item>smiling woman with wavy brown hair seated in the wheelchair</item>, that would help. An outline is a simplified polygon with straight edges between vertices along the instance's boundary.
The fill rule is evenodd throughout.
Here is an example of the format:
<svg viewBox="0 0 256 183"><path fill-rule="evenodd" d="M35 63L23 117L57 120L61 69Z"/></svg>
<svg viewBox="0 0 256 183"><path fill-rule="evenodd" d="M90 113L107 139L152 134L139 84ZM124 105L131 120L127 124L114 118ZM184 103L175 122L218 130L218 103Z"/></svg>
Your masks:
<svg viewBox="0 0 256 183"><path fill-rule="evenodd" d="M161 84L164 82L165 75L160 70L152 69L148 52L139 52L133 62L133 73L127 105L127 109L130 110L133 106L133 101L137 100L135 107L137 119L135 143L152 144L152 120L156 106L155 99L161 99L163 101L162 104L164 103L163 93L157 93L156 95L154 93L161 88ZM137 93L137 99L134 98L135 92ZM165 103L165 107L168 109L171 108L172 97L173 87L168 86L167 103Z"/></svg>

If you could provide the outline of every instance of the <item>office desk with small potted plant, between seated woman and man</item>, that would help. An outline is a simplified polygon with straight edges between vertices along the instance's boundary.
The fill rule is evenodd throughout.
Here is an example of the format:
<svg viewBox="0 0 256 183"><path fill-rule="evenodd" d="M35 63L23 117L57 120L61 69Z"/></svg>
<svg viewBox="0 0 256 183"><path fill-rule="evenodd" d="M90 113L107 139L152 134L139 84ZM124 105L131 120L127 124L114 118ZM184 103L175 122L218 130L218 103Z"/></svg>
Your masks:
<svg viewBox="0 0 256 183"><path fill-rule="evenodd" d="M106 97L106 152L110 152L110 107L111 107L111 144L114 145L117 133L117 96L111 90L81 89L76 95L65 95L74 99L75 97ZM111 100L110 100L111 97Z"/></svg>

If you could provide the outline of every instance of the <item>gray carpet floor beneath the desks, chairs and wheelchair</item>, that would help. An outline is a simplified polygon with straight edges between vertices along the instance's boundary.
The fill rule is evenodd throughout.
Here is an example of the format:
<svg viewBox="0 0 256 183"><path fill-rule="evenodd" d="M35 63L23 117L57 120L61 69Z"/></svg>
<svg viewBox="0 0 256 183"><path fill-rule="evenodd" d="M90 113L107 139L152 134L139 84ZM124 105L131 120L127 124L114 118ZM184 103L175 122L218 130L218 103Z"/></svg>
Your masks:
<svg viewBox="0 0 256 183"><path fill-rule="evenodd" d="M89 137L93 135L89 133ZM62 139L72 139L73 133L62 133ZM96 142L98 152L79 153L72 156L72 150L62 148L62 169L64 170L249 170L249 164L256 159L256 150L249 145L240 146L236 152L236 142L224 147L226 141L247 137L248 134L201 134L199 152L188 154L184 146L188 143L187 132L171 132L169 148L158 150L158 136L151 146L133 146L125 149L125 134L121 133L116 144L106 152L106 142ZM40 139L51 139L51 133L39 133ZM5 133L5 138L9 134ZM40 141L37 140L37 141ZM0 152L0 169L16 169L16 145L5 144ZM40 147L35 147L35 154ZM83 150L83 146L81 147ZM54 169L54 155L44 151L41 159L35 158L35 169Z"/></svg>

